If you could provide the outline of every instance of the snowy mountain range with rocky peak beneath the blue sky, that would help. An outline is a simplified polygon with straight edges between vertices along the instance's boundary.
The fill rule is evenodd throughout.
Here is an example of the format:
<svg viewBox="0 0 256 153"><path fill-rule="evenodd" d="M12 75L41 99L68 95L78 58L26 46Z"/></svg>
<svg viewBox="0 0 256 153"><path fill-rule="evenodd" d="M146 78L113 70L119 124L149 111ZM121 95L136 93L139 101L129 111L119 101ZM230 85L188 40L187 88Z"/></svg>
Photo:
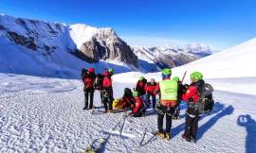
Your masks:
<svg viewBox="0 0 256 153"><path fill-rule="evenodd" d="M203 44L130 47L112 28L67 26L0 15L0 71L40 76L72 75L82 67L155 72L211 54ZM24 66L21 66L24 65ZM34 65L34 66L32 66ZM41 70L42 72L37 72Z"/></svg>

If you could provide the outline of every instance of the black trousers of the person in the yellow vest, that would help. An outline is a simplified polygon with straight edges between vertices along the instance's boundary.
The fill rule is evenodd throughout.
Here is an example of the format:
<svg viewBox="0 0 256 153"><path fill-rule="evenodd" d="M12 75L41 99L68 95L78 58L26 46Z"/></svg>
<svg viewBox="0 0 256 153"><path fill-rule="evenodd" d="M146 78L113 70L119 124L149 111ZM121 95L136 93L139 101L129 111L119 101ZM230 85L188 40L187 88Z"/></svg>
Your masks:
<svg viewBox="0 0 256 153"><path fill-rule="evenodd" d="M166 133L171 132L172 127L172 114L174 114L174 108L167 108L165 106L159 105L157 109L157 127L159 132L163 132L163 119L166 114Z"/></svg>

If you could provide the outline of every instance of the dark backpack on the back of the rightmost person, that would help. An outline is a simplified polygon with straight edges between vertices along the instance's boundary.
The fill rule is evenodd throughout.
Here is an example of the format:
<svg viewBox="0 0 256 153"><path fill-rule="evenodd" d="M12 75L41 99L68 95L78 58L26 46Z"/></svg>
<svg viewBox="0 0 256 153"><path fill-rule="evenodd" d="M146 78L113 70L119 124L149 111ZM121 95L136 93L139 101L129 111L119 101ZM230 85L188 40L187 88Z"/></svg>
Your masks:
<svg viewBox="0 0 256 153"><path fill-rule="evenodd" d="M199 113L208 113L212 110L214 100L212 97L213 88L209 83L204 83L199 89Z"/></svg>

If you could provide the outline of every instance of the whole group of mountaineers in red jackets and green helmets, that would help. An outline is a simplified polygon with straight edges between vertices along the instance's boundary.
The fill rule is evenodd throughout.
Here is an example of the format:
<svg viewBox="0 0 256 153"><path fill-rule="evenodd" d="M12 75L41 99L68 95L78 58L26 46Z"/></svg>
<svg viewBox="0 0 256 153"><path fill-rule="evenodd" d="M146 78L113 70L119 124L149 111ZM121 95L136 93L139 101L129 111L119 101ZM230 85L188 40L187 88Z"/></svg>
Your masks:
<svg viewBox="0 0 256 153"><path fill-rule="evenodd" d="M82 69L82 81L84 84L85 106L83 110L95 109L93 106L94 92L101 92L101 103L104 106L104 112L115 112L115 110L132 110L129 115L141 117L150 108L157 112L157 132L156 135L170 140L172 120L179 118L179 105L181 101L188 104L185 119L185 132L182 138L188 142L196 141L196 133L198 129L198 121L200 114L205 111L212 110L214 104L210 87L210 93L206 89L209 85L204 82L203 75L199 72L191 74L191 84L182 84L182 80L178 76L172 76L172 70L169 68L161 71L162 80L155 82L154 78L150 81L143 76L139 76L134 92L131 89L125 88L121 98L114 99L112 78L114 69L104 70L102 75L95 75L93 68L87 70ZM184 78L184 76L183 76ZM155 95L158 95L159 100L156 103ZM204 95L204 96L203 96ZM90 103L88 105L88 97ZM152 99L152 100L150 100ZM163 129L164 116L166 116L166 128Z"/></svg>

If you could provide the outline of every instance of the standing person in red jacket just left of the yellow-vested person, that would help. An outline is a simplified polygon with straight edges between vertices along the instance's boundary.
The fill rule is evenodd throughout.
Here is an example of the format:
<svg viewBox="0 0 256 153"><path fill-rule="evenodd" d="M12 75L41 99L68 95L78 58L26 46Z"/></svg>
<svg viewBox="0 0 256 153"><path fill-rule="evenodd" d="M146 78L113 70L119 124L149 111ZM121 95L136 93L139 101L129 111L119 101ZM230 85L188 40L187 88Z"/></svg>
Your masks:
<svg viewBox="0 0 256 153"><path fill-rule="evenodd" d="M155 87L156 87L156 82L155 82L155 78L151 78L150 82L147 83L147 85L145 86L145 91L146 91L146 105L147 108L149 108L150 106L150 97L152 96L152 106L153 109L155 110Z"/></svg>

